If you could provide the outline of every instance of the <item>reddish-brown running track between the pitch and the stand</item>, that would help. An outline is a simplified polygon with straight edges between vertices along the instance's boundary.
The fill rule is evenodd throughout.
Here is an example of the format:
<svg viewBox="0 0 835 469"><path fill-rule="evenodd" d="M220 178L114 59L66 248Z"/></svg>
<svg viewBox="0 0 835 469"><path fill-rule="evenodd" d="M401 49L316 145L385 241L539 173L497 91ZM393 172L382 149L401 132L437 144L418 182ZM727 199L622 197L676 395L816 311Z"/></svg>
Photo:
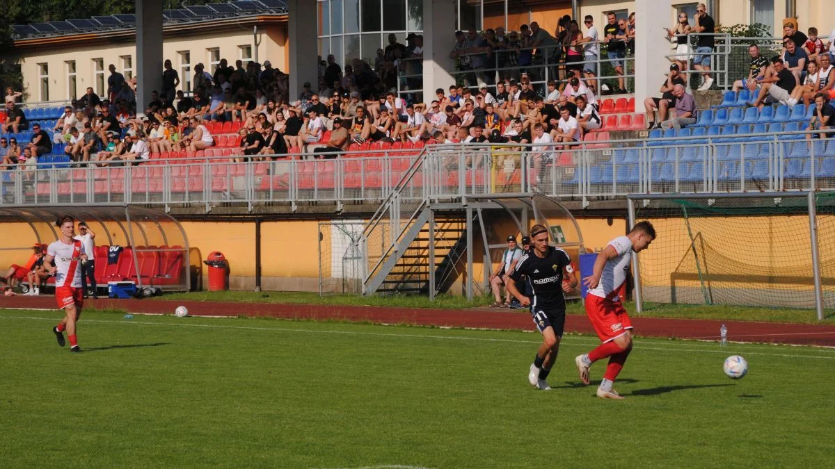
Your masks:
<svg viewBox="0 0 835 469"><path fill-rule="evenodd" d="M296 320L348 320L378 324L435 325L478 329L534 330L530 316L509 310L430 310L376 306L283 305L278 303L232 303L180 300L87 300L94 310L124 310L131 313L172 314L185 305L195 316L249 316ZM55 309L53 296L0 297L0 308ZM642 318L632 315L638 335L679 339L718 340L721 321ZM835 346L835 325L783 324L775 322L725 321L728 340L778 342L797 345ZM594 334L584 315L568 315L567 332Z"/></svg>

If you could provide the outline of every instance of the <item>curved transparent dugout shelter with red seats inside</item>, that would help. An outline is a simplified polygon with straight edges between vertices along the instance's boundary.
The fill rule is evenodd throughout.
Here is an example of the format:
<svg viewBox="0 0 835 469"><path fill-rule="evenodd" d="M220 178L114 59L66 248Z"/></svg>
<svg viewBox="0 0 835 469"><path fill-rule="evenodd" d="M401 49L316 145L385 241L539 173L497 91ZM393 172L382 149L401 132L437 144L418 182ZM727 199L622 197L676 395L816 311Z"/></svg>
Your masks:
<svg viewBox="0 0 835 469"><path fill-rule="evenodd" d="M99 287L133 281L138 288L190 290L189 240L180 222L159 210L133 205L0 208L0 266L19 264L31 255L35 243L58 240L55 221L63 214L72 215L76 223L86 222L96 234L92 257Z"/></svg>

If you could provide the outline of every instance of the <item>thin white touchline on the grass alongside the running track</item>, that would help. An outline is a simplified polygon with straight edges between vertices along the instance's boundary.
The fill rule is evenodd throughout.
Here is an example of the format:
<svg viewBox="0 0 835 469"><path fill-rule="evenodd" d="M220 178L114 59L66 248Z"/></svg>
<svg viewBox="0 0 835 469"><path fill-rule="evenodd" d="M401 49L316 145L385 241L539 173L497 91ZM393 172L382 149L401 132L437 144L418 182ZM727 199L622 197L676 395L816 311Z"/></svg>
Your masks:
<svg viewBox="0 0 835 469"><path fill-rule="evenodd" d="M55 320L55 318L43 318L35 316L4 316L0 315L0 319L18 319L18 320ZM271 332L304 332L309 334L342 334L342 335L372 335L377 337L407 337L417 339L439 339L439 340L474 340L479 342L509 342L515 344L539 344L539 340L513 340L513 339L493 339L488 337L466 337L463 335L423 335L423 334L390 334L382 332L358 332L356 330L314 330L314 329L291 329L283 327L253 327L246 325L215 325L215 324L173 324L163 322L148 322L141 320L83 320L83 322L95 322L104 324L136 324L136 325L169 325L176 327L203 327L208 329L236 329L236 330L266 330ZM595 346L595 342L579 342L579 338L564 337L563 340L569 340L569 346ZM643 340L635 340L636 344L640 344ZM734 344L734 345L750 345L750 344ZM661 351L686 351L686 352L707 352L726 354L730 350L705 350L703 348L676 348L676 347L651 347L640 345L640 350L661 350ZM818 358L822 360L835 360L835 356L813 356L813 355L790 355L777 353L764 353L746 351L746 355L756 356L780 356L786 358Z"/></svg>

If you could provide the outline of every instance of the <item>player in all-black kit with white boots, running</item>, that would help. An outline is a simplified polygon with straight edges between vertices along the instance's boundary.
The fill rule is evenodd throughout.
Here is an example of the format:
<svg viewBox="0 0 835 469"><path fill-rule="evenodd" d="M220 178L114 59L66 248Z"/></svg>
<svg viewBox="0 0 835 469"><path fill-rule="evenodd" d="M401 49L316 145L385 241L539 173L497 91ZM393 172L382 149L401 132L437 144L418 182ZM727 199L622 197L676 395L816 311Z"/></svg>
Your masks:
<svg viewBox="0 0 835 469"><path fill-rule="evenodd" d="M559 248L548 245L548 229L541 224L530 229L532 249L517 263L507 288L523 306L530 306L534 324L542 334L542 345L536 352L534 363L530 366L528 381L540 390L551 389L548 374L559 352L559 340L565 326L565 296L563 295L563 274L569 279L571 288L577 286L569 255ZM523 275L529 283L533 295L529 298L519 293L516 282Z"/></svg>

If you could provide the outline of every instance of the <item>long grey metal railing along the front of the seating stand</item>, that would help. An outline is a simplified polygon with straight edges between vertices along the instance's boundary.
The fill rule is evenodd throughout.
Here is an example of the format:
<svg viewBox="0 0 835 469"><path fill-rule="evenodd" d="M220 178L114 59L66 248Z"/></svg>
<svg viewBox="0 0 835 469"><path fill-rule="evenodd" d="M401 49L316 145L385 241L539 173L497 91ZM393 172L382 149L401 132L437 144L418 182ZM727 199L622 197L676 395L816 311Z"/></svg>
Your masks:
<svg viewBox="0 0 835 469"><path fill-rule="evenodd" d="M539 192L561 199L645 193L835 190L835 138L802 131L555 144L429 145L371 149L337 159L233 162L171 159L124 166L54 163L0 167L0 206L120 203L159 206L385 202L382 245L406 229L406 211L425 200ZM399 204L399 205L398 205ZM417 205L415 205L417 206ZM382 221L382 212L390 212ZM393 211L392 211L393 210ZM396 216L391 214L397 213ZM373 267L373 266L369 266Z"/></svg>

